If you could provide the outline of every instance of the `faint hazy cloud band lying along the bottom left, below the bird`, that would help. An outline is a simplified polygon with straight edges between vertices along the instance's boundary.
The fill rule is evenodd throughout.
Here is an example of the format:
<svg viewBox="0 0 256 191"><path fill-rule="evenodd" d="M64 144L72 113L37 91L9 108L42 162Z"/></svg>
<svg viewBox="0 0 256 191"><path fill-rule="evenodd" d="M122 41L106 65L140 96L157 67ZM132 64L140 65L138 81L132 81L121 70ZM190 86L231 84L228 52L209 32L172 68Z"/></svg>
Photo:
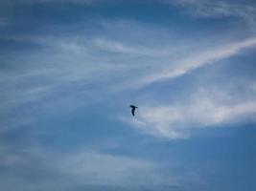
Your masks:
<svg viewBox="0 0 256 191"><path fill-rule="evenodd" d="M6 185L4 181L24 185L27 179L36 182L26 183L36 190L41 186L45 190L53 189L55 186L58 189L68 187L74 190L77 187L89 188L90 186L137 189L177 184L174 180L167 181L169 178L161 175L160 164L147 159L105 154L88 149L59 153L36 148L19 151L0 148L0 154L1 167L8 167L12 173L20 172L20 174L0 173L2 189L14 190L17 186L17 184L13 187L12 184Z"/></svg>

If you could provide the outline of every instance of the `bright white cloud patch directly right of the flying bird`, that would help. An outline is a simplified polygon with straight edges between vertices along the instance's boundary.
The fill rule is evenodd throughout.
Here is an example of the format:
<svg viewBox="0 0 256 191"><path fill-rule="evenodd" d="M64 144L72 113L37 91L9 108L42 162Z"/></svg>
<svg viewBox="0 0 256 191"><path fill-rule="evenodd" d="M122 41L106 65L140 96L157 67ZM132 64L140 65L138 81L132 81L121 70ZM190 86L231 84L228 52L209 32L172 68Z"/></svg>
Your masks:
<svg viewBox="0 0 256 191"><path fill-rule="evenodd" d="M221 90L223 92L223 90ZM216 93L215 93L216 92ZM141 106L136 118L125 119L153 136L187 138L193 128L224 126L256 119L256 99L236 100L219 91L199 91L189 101Z"/></svg>

